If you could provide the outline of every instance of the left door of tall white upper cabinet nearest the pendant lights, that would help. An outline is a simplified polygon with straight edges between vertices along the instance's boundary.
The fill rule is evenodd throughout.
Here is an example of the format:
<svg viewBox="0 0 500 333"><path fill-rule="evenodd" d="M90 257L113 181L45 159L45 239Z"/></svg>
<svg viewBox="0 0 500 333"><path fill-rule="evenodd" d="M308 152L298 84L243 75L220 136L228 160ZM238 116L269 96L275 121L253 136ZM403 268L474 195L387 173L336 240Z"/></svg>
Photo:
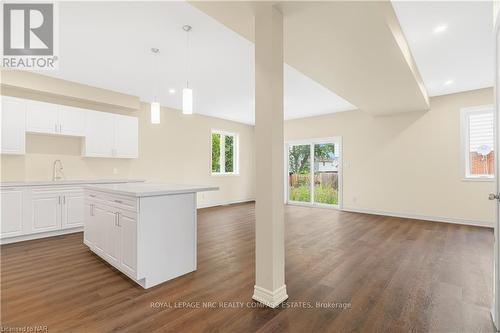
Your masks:
<svg viewBox="0 0 500 333"><path fill-rule="evenodd" d="M112 113L88 111L85 126L84 156L113 157L115 117Z"/></svg>

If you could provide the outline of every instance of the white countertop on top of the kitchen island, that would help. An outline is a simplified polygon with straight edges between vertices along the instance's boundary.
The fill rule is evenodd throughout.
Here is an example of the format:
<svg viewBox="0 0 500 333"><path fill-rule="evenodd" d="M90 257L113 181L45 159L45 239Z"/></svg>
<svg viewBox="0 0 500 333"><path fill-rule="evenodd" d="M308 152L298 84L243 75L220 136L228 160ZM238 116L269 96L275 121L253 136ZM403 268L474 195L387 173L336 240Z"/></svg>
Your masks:
<svg viewBox="0 0 500 333"><path fill-rule="evenodd" d="M217 186L167 184L167 183L125 183L86 185L86 189L128 195L134 197L152 197L161 195L185 194L205 191L216 191Z"/></svg>

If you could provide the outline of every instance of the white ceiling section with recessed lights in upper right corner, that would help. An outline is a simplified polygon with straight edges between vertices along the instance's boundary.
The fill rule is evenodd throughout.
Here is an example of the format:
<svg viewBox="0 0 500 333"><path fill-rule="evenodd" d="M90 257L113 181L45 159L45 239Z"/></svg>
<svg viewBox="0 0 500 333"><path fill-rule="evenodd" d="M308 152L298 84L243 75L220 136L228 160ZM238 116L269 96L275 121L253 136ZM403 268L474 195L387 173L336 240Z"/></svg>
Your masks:
<svg viewBox="0 0 500 333"><path fill-rule="evenodd" d="M493 86L492 1L392 4L429 96Z"/></svg>

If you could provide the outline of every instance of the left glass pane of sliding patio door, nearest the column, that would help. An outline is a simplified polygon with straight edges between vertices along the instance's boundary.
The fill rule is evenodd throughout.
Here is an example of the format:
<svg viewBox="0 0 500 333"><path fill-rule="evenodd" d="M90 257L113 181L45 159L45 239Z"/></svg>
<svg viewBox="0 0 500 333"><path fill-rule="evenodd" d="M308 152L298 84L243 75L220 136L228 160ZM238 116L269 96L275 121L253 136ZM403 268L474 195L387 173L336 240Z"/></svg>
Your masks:
<svg viewBox="0 0 500 333"><path fill-rule="evenodd" d="M288 199L311 201L311 146L290 146L288 151Z"/></svg>

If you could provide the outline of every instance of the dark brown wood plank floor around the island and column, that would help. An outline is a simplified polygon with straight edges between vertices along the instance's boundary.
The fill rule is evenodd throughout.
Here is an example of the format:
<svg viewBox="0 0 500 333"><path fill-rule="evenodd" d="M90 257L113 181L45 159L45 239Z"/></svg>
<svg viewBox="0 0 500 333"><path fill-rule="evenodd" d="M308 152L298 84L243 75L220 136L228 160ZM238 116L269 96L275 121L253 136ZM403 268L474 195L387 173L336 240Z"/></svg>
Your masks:
<svg viewBox="0 0 500 333"><path fill-rule="evenodd" d="M251 300L254 205L208 208L198 270L149 290L81 233L2 246L1 321L49 332L491 332L492 256L491 229L289 206L290 298L262 308Z"/></svg>

